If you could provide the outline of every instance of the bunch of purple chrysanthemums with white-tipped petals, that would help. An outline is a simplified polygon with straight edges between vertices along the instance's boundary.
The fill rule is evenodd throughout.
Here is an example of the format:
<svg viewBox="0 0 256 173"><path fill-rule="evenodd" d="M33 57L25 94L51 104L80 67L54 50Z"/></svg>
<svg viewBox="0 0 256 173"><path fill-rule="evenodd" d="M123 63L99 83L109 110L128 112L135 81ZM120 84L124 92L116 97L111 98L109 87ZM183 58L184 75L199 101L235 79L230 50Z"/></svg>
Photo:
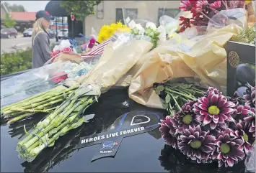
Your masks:
<svg viewBox="0 0 256 173"><path fill-rule="evenodd" d="M255 141L255 89L248 95L244 95L247 105L254 107L242 106L237 98L228 100L216 88L208 88L202 97L161 121L164 141L197 163L233 167L245 159Z"/></svg>

